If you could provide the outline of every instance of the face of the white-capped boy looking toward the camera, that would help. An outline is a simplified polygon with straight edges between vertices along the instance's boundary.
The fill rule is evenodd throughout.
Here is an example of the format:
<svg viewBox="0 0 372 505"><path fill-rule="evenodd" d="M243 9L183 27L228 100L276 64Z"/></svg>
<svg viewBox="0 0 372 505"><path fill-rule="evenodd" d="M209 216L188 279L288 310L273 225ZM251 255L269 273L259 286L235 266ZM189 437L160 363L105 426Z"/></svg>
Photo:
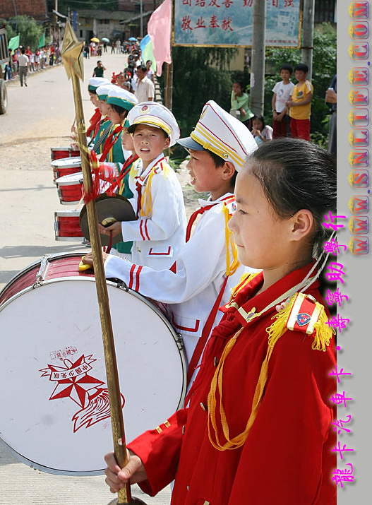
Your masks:
<svg viewBox="0 0 372 505"><path fill-rule="evenodd" d="M169 147L170 138L160 128L148 124L138 124L133 133L134 150L148 165L155 160L164 149Z"/></svg>

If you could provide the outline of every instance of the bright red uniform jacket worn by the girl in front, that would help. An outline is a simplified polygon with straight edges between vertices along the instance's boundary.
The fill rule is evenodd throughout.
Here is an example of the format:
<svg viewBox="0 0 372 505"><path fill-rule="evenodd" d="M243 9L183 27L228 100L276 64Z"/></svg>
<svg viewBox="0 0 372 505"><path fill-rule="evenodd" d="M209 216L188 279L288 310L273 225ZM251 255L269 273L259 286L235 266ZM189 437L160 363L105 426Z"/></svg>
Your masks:
<svg viewBox="0 0 372 505"><path fill-rule="evenodd" d="M253 307L259 312L301 282L309 268L289 273L254 297L263 282L260 273L234 301L247 313ZM318 283L306 293L322 302ZM266 328L277 314L273 307L246 323L235 307L226 307L205 348L189 407L128 446L145 465L148 480L140 486L154 495L175 478L174 505L335 505L331 471L336 453L331 450L336 441L329 400L335 391L329 376L335 368L333 338L324 352L311 348L312 336L287 330L273 349L262 403L244 446L219 451L210 443L206 408L215 358L220 360L227 341L244 326L224 362L223 405L232 438L244 431L251 414L268 349Z"/></svg>

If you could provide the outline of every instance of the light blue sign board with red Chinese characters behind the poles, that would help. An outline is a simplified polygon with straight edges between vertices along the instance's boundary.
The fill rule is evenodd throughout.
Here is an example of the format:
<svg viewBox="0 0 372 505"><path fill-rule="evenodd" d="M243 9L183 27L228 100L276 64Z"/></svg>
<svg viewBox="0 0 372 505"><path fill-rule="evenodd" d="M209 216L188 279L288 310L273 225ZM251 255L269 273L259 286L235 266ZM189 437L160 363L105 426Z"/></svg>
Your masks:
<svg viewBox="0 0 372 505"><path fill-rule="evenodd" d="M299 47L300 0L266 0L266 44ZM175 45L252 44L253 0L175 0Z"/></svg>

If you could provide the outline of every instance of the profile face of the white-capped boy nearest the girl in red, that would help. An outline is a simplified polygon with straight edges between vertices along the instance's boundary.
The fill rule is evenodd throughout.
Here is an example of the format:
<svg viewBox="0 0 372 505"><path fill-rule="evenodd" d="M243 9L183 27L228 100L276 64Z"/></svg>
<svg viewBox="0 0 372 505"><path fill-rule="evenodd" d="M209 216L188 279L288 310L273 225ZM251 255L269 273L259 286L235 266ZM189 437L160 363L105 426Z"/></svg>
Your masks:
<svg viewBox="0 0 372 505"><path fill-rule="evenodd" d="M190 160L186 165L190 174L190 184L197 193L214 193L220 188L222 167L216 167L208 151L189 150Z"/></svg>

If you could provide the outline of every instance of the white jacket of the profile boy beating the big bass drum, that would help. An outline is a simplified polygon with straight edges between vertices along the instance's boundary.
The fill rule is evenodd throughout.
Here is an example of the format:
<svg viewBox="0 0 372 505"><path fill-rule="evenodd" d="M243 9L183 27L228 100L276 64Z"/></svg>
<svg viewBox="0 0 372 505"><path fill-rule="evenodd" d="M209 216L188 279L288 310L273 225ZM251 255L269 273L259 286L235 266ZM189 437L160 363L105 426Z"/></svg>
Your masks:
<svg viewBox="0 0 372 505"><path fill-rule="evenodd" d="M226 242L222 209L224 200L232 196L226 194L215 202L199 200L200 206L214 205L201 215L191 239L177 256L176 273L174 268L155 272L115 256L109 256L104 263L107 278L120 278L145 297L169 304L172 325L184 339L188 363L224 282ZM246 271L253 269L239 266L229 277L221 305L229 302L232 288ZM213 326L221 317L218 311Z"/></svg>

